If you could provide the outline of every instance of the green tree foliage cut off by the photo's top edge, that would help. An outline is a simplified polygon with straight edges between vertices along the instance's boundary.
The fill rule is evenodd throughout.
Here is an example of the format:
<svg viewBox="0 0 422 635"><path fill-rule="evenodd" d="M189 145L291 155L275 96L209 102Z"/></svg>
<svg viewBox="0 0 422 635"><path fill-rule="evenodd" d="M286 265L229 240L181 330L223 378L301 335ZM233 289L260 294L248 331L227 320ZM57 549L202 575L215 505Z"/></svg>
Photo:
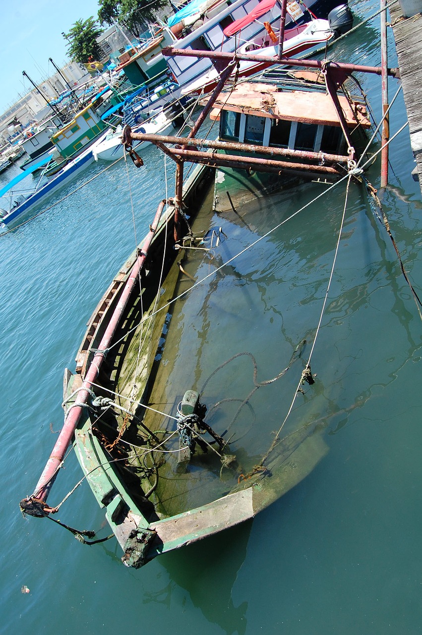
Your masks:
<svg viewBox="0 0 422 635"><path fill-rule="evenodd" d="M136 36L145 29L147 20L154 20L157 9L167 4L166 0L99 0L98 20L112 25L120 22Z"/></svg>

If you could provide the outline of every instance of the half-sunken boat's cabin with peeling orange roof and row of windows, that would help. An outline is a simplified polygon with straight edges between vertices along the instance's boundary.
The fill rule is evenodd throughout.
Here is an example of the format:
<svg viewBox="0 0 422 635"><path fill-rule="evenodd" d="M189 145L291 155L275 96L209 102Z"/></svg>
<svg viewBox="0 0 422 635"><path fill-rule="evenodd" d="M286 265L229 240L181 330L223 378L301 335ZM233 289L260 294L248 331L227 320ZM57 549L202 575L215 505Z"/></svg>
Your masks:
<svg viewBox="0 0 422 635"><path fill-rule="evenodd" d="M219 138L226 144L218 150L226 157L217 168L216 211L298 180L331 182L346 173L348 142L336 107L318 73L307 72L306 78L286 74L281 83L240 83L214 102L211 118L220 119ZM338 99L350 140L360 146L371 127L366 105L344 93Z"/></svg>

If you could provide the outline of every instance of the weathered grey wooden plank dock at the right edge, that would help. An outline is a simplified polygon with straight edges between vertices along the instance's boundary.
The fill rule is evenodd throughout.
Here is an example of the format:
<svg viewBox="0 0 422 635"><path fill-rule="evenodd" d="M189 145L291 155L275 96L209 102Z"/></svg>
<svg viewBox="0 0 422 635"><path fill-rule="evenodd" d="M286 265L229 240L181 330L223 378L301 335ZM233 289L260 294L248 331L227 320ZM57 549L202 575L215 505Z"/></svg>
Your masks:
<svg viewBox="0 0 422 635"><path fill-rule="evenodd" d="M399 59L411 146L422 190L422 13L403 17L398 1L390 6L391 23Z"/></svg>

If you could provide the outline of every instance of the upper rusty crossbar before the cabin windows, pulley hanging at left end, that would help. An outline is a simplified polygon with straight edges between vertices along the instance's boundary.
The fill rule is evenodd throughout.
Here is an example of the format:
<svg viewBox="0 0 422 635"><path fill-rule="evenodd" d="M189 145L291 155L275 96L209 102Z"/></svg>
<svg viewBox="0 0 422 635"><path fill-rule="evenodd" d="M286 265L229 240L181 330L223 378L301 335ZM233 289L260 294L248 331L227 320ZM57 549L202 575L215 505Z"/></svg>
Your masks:
<svg viewBox="0 0 422 635"><path fill-rule="evenodd" d="M268 145L241 144L232 141L218 141L211 139L195 139L187 137L171 137L169 135L152 135L148 133L133 132L131 138L140 141L150 141L153 144L173 144L173 145L190 145L204 148L213 148L216 150L234 150L235 152L251 152L254 154L270 154L272 156L290 157L296 159L307 159L308 161L324 161L329 163L347 163L348 157L343 154L329 154L326 152L312 152L311 150L289 150L288 148L276 148ZM166 146L163 146L166 147ZM167 149L168 150L168 149ZM168 150L171 156L173 150ZM172 157L176 160L175 157Z"/></svg>

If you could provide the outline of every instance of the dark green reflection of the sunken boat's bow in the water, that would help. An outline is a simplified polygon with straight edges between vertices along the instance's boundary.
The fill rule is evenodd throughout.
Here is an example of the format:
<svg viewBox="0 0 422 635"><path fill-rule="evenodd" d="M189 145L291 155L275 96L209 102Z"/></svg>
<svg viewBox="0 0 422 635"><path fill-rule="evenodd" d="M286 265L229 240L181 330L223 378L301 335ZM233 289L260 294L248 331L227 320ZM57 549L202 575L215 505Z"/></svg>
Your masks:
<svg viewBox="0 0 422 635"><path fill-rule="evenodd" d="M185 589L192 604L208 622L218 624L227 635L246 632L247 602L234 605L232 589L244 563L253 521L247 521L206 540L161 556L171 582L146 592L145 604L171 605L176 585Z"/></svg>

